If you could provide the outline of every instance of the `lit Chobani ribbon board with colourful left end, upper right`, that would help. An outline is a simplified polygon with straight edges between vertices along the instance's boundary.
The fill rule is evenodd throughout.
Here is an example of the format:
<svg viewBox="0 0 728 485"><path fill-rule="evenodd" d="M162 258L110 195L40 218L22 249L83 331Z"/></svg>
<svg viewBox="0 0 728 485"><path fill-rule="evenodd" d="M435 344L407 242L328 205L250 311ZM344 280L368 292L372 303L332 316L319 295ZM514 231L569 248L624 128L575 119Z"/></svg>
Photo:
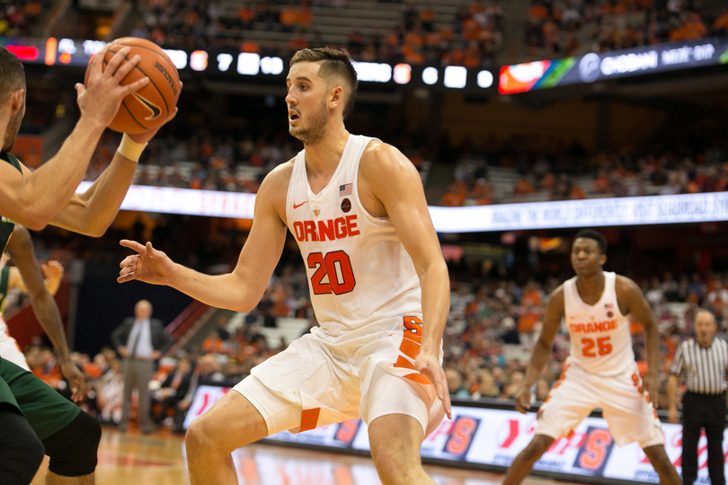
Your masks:
<svg viewBox="0 0 728 485"><path fill-rule="evenodd" d="M526 93L537 89L590 84L634 75L649 75L728 63L728 39L668 42L584 56L502 66L498 91Z"/></svg>

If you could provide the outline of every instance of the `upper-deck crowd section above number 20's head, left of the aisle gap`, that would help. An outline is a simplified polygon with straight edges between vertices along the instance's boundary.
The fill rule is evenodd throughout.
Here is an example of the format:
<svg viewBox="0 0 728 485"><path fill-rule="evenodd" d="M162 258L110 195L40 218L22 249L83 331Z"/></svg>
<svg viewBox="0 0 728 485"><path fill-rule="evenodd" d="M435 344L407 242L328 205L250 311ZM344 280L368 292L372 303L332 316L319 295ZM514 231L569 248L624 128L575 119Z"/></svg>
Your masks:
<svg viewBox="0 0 728 485"><path fill-rule="evenodd" d="M345 44L352 56L362 61L470 67L493 64L502 46L499 1L464 4L447 19L439 19L428 5L396 3L402 4L401 14L388 30L354 27L344 42L326 38L315 23L317 7L334 7L337 13L345 14L346 2L342 0L246 2L236 13L214 0L150 0L131 35L168 48L232 49L284 58L300 48ZM256 35L255 30L280 32L280 39L287 41L271 41Z"/></svg>

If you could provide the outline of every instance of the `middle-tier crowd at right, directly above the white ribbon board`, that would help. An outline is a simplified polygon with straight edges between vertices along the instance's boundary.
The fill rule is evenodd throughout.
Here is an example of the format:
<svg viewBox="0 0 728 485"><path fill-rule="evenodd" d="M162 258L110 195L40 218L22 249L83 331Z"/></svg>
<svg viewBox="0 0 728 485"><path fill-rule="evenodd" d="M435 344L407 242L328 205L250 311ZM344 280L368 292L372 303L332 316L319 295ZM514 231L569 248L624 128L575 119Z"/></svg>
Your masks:
<svg viewBox="0 0 728 485"><path fill-rule="evenodd" d="M589 153L576 143L566 146L557 140L511 137L461 154L454 180L439 202L459 207L724 191L728 188L724 139L716 136L684 145L659 142ZM505 172L510 178L493 187L489 168L510 169Z"/></svg>

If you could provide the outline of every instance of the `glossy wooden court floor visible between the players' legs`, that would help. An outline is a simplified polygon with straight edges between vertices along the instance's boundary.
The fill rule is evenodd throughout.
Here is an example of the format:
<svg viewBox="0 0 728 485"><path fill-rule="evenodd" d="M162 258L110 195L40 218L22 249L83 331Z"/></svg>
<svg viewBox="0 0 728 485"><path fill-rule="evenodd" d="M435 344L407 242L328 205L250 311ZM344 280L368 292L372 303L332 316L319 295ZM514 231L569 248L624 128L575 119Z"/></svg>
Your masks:
<svg viewBox="0 0 728 485"><path fill-rule="evenodd" d="M368 457L276 445L249 445L233 456L241 485L381 485ZM438 485L496 485L502 474L425 465ZM48 457L31 485L43 485ZM190 483L181 435L136 428L120 433L104 427L96 468L97 485L185 485ZM530 478L524 485L576 485ZM215 484L210 484L215 485Z"/></svg>

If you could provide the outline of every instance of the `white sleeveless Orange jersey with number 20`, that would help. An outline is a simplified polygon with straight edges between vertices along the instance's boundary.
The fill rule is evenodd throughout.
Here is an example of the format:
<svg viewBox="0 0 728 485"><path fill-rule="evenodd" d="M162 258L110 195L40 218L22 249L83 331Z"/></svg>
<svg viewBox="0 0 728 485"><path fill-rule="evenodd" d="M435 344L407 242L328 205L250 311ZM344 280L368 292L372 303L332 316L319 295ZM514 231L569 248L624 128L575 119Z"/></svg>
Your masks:
<svg viewBox="0 0 728 485"><path fill-rule="evenodd" d="M297 154L289 182L289 230L306 265L316 319L333 337L402 330L404 316L422 320L419 278L394 226L361 206L360 158L372 139L349 136L319 193L308 184L306 150Z"/></svg>

